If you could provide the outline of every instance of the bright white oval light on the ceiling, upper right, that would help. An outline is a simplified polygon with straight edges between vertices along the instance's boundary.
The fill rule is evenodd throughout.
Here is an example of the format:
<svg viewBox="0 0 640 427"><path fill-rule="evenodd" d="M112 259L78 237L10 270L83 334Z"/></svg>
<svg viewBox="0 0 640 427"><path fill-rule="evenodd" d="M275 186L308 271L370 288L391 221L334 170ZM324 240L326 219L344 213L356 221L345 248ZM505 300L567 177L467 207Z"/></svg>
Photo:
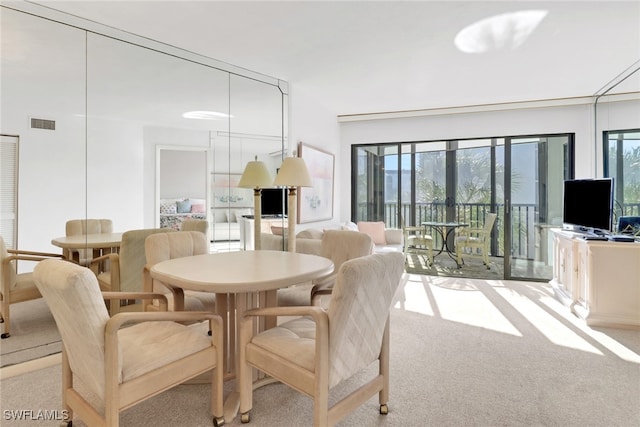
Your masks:
<svg viewBox="0 0 640 427"><path fill-rule="evenodd" d="M517 49L547 16L546 10L521 10L477 21L458 32L454 43L465 53Z"/></svg>

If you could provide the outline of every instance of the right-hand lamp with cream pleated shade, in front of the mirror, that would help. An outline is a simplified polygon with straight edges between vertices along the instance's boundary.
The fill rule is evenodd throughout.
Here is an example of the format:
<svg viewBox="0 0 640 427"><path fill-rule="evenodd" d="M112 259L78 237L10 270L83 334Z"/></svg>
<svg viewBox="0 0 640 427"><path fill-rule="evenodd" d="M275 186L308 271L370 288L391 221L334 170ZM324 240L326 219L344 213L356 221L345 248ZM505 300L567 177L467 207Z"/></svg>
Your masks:
<svg viewBox="0 0 640 427"><path fill-rule="evenodd" d="M278 187L287 187L289 191L289 252L296 251L296 189L297 187L311 187L311 176L307 165L301 157L286 157L280 166L278 175L273 182Z"/></svg>

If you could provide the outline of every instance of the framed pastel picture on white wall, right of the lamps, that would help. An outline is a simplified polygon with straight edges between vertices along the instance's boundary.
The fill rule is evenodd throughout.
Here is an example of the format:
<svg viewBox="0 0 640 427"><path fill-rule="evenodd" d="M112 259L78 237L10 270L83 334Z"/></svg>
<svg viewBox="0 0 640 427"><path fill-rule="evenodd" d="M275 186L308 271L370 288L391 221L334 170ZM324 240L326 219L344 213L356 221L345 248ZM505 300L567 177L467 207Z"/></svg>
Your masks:
<svg viewBox="0 0 640 427"><path fill-rule="evenodd" d="M334 155L301 142L298 157L304 159L313 183L298 189L298 223L333 218Z"/></svg>

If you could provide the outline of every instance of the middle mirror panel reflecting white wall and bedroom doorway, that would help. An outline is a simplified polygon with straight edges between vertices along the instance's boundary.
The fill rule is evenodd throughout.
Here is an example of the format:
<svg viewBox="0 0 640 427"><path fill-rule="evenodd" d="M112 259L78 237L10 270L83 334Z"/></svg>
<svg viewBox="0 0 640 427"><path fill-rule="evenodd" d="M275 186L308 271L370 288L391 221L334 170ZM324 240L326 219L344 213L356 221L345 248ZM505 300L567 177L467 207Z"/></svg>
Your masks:
<svg viewBox="0 0 640 427"><path fill-rule="evenodd" d="M207 162L198 160L197 167L205 172L199 175L199 184L191 184L187 178L193 176L195 165L188 159L206 153L212 128L228 129L227 74L107 37L88 36L88 215L112 218L119 230L179 228L180 220L192 212L183 212L185 202L181 212L170 211L173 217L161 216L164 199L191 197L205 204L200 209L202 203L197 203L203 212L194 213L206 216ZM192 111L218 115L184 117ZM160 159L162 185L156 189L154 158L159 146L170 146L174 155ZM184 147L181 154L179 147ZM181 186L184 194L179 194Z"/></svg>

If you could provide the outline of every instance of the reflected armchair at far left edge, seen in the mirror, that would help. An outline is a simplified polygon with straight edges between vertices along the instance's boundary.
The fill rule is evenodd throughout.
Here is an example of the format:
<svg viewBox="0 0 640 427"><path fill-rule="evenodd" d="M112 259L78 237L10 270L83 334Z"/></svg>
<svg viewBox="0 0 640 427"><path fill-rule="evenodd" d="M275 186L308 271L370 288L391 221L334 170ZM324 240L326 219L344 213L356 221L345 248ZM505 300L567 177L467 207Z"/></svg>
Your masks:
<svg viewBox="0 0 640 427"><path fill-rule="evenodd" d="M62 254L7 249L0 236L0 322L4 325L3 339L11 336L11 304L41 297L33 281L33 273L18 273L18 261L35 263L48 258L63 258Z"/></svg>

